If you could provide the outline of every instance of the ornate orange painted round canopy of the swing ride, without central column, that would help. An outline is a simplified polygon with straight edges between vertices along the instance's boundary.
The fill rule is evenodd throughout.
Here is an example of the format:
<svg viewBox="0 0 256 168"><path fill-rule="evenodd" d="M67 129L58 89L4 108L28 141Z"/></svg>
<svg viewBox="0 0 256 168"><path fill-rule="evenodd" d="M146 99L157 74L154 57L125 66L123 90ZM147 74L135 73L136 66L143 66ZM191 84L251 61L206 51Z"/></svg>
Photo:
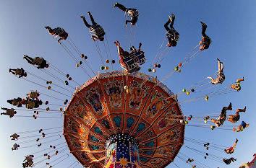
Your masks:
<svg viewBox="0 0 256 168"><path fill-rule="evenodd" d="M112 71L76 89L66 107L64 136L84 167L104 167L106 140L117 133L138 141L140 167L166 167L184 141L182 118L175 95L155 77Z"/></svg>

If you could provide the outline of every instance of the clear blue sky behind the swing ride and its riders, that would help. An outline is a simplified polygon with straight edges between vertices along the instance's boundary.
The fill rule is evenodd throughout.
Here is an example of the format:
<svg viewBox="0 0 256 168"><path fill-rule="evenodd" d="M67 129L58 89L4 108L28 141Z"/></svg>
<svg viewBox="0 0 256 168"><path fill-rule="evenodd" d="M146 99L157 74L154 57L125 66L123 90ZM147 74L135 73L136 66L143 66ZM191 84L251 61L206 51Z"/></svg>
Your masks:
<svg viewBox="0 0 256 168"><path fill-rule="evenodd" d="M94 71L100 70L100 58L98 56L95 43L90 39L88 29L80 19L80 15L84 15L88 21L87 12L93 14L95 22L103 26L108 37L111 56L116 59L114 69L119 70L118 55L114 40L119 40L122 46L126 46L129 40L129 28L124 25L124 12L119 9L112 9L116 1L1 1L0 5L0 104L1 107L12 107L7 104L6 100L14 97L25 97L30 90L38 89L61 99L66 99L62 95L49 92L47 89L38 88L38 86L17 79L9 74L9 68L23 67L25 70L37 74L44 79L52 80L42 71L30 66L22 57L24 54L35 57L43 56L47 61L61 69L80 84L84 83L89 77L81 70L76 68L72 58L56 43L56 41L48 35L44 26L63 27L69 32L77 48L88 56L88 62ZM137 8L140 12L137 26L133 28L132 37L135 37L134 45L142 43L142 50L145 51L147 63L142 66L142 72L147 72L148 67L153 61L155 53L157 53L164 37L165 32L163 25L168 19L168 14L174 13L176 20L174 27L180 34L180 40L176 48L172 48L168 56L161 63L153 75L158 79L163 79L178 63L181 61L192 48L197 45L201 38L200 21L208 25L208 34L213 43L208 50L204 50L199 56L194 58L184 67L181 74L174 74L164 84L171 89L172 92L180 92L183 88L195 84L197 81L205 79L206 76L212 76L218 70L216 58L221 59L224 64L224 72L226 81L222 85L218 85L214 89L228 87L229 84L236 79L244 76L245 81L242 82L241 92L231 94L223 94L218 97L212 97L208 102L205 100L197 100L193 102L183 103L181 105L182 112L185 115L205 115L208 113L220 112L223 106L232 102L233 111L236 108L247 106L247 112L241 115L241 120L236 124L226 121L225 125L238 125L242 120L249 123L249 127L243 132L236 133L233 131L210 128L193 128L186 127L185 136L195 138L201 141L209 141L223 146L231 146L235 139L239 142L236 146L234 154L225 154L221 151L208 151L210 154L216 154L223 158L233 156L236 162L225 165L214 162L211 159L204 159L203 156L194 153L189 149L182 147L182 154L202 162L208 167L239 167L242 163L252 160L252 155L256 152L256 131L255 131L255 5L253 0L248 1L119 1L127 7ZM128 32L128 33L127 33ZM128 37L127 37L128 36ZM103 45L101 45L103 50ZM106 56L104 57L106 58ZM90 69L86 68L88 72ZM50 70L51 71L51 70ZM92 73L90 73L93 76ZM46 86L44 81L32 79ZM58 81L56 81L58 82ZM59 84L64 87L64 84ZM69 88L70 89L70 88ZM56 89L58 90L58 89ZM61 91L70 94L66 91ZM48 98L43 97L45 101ZM179 100L188 100L189 97L181 97ZM62 102L54 102L60 104ZM46 107L45 105L43 107ZM57 109L58 107L52 106ZM228 113L229 114L229 113ZM26 112L19 112L18 115L27 115ZM31 114L29 114L31 115ZM46 116L46 115L44 115ZM14 141L9 140L9 136L14 132L33 131L40 128L53 128L62 125L62 119L59 115L56 118L8 118L1 115L0 117L0 167L16 168L21 167L22 160L26 154L38 151L38 147L20 149L12 151ZM205 115L206 116L206 115ZM230 127L231 128L231 127ZM61 128L59 128L61 131ZM64 139L58 140L64 142ZM194 149L203 151L203 146L197 146L195 143L185 141L185 145ZM39 161L40 159L38 159ZM56 167L68 167L75 162L74 156L69 157ZM191 167L181 159L176 158L174 161L179 167ZM39 165L38 167L43 167ZM77 166L79 167L79 166ZM168 167L176 167L170 164Z"/></svg>

